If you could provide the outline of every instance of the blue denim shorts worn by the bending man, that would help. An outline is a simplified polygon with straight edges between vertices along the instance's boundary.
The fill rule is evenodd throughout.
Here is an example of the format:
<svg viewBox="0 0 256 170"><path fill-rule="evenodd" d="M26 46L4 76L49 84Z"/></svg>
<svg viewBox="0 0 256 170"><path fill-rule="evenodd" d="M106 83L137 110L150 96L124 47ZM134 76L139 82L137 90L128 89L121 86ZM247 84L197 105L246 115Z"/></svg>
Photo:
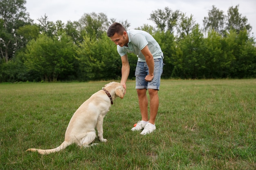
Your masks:
<svg viewBox="0 0 256 170"><path fill-rule="evenodd" d="M157 58L154 59L154 77L151 82L146 82L145 77L149 74L148 64L146 62L137 62L135 77L136 77L136 89L155 89L159 90L160 78L163 73L163 59Z"/></svg>

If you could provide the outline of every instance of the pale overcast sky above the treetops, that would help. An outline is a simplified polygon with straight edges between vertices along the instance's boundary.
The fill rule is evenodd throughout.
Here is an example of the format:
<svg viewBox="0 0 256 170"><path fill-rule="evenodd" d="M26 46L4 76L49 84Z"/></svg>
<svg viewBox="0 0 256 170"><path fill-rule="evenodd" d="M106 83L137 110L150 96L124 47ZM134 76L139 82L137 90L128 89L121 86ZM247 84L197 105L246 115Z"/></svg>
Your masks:
<svg viewBox="0 0 256 170"><path fill-rule="evenodd" d="M164 7L180 10L188 17L192 14L195 22L203 28L202 20L208 17L213 5L227 15L229 7L238 4L239 13L248 19L256 37L256 0L27 0L25 7L36 23L45 14L49 21L61 20L66 24L68 20L78 21L84 13L95 12L106 14L108 19L128 20L129 29L134 29L143 24L156 26L148 20L150 13Z"/></svg>

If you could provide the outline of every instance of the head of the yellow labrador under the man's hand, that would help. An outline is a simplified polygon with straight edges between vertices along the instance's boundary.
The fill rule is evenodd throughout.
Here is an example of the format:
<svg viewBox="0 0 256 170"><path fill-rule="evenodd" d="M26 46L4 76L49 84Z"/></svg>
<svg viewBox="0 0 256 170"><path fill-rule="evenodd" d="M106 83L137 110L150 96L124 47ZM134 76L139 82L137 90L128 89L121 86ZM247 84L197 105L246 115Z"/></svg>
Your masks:
<svg viewBox="0 0 256 170"><path fill-rule="evenodd" d="M121 85L120 83L110 82L110 83L106 84L104 88L110 92L111 96L113 95L113 93L115 93L115 95L117 95L121 99L124 98L125 89L124 89L123 85Z"/></svg>

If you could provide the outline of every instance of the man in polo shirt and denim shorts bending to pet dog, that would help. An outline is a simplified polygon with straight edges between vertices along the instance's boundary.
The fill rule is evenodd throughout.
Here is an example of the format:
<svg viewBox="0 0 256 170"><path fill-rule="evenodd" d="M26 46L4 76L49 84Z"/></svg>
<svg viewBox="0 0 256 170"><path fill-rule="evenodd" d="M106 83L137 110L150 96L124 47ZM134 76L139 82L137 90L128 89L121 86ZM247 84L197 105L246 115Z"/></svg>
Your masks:
<svg viewBox="0 0 256 170"><path fill-rule="evenodd" d="M121 84L126 89L126 81L130 73L130 65L127 53L135 53L138 56L135 71L136 89L139 98L141 121L131 130L142 130L141 135L153 132L155 118L159 106L158 90L160 77L163 71L163 53L152 35L141 30L126 31L124 26L115 22L108 28L108 37L117 45L117 51L121 56ZM148 98L150 97L150 118L148 120Z"/></svg>

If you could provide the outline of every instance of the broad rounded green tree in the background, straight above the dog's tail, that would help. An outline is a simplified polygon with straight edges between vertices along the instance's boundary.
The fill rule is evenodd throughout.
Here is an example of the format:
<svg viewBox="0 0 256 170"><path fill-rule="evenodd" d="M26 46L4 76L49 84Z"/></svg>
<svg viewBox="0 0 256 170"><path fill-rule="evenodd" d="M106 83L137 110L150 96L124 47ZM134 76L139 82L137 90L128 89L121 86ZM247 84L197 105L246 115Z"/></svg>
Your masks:
<svg viewBox="0 0 256 170"><path fill-rule="evenodd" d="M76 46L65 32L58 32L54 38L45 34L27 45L25 65L44 81L56 81L74 73Z"/></svg>

